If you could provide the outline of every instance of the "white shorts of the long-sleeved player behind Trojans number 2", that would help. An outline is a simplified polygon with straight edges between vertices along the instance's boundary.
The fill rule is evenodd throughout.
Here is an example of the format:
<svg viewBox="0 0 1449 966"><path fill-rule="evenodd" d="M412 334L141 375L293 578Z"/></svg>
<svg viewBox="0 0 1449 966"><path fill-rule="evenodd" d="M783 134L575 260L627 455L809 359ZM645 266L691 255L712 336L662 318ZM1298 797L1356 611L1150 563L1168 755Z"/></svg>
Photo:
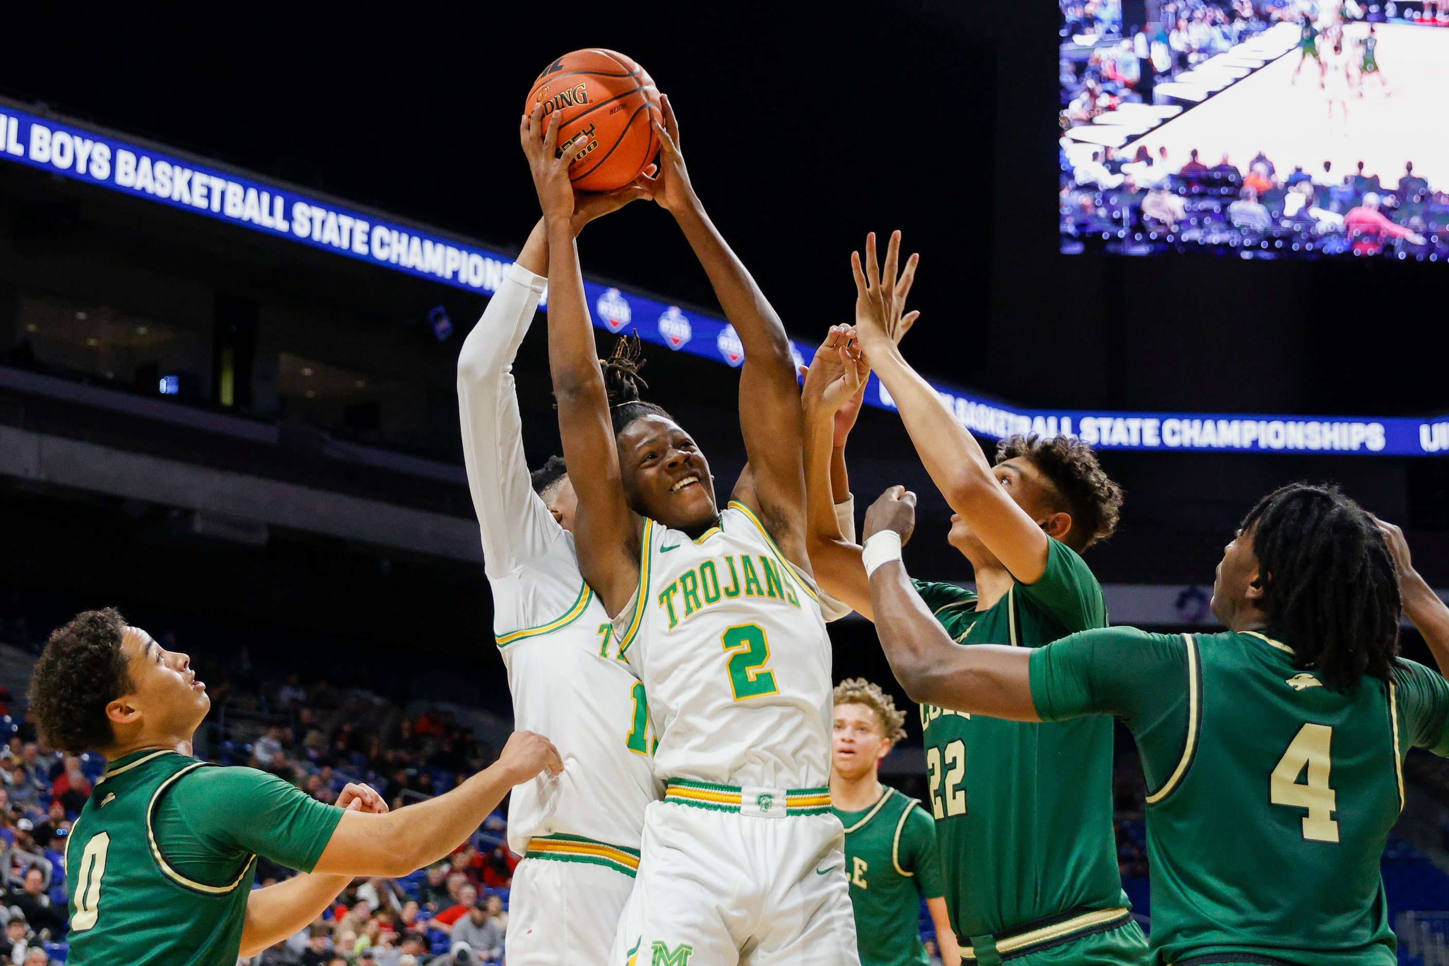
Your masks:
<svg viewBox="0 0 1449 966"><path fill-rule="evenodd" d="M604 966L632 889L607 866L523 859L509 892L509 966Z"/></svg>

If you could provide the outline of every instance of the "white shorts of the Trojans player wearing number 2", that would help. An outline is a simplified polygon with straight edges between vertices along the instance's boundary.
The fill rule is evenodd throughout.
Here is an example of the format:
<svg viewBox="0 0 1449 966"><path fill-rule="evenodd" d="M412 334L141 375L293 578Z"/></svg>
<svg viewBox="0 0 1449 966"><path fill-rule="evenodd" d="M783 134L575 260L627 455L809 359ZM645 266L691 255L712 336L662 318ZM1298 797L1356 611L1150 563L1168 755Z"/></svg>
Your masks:
<svg viewBox="0 0 1449 966"><path fill-rule="evenodd" d="M840 821L652 802L611 960L858 966Z"/></svg>

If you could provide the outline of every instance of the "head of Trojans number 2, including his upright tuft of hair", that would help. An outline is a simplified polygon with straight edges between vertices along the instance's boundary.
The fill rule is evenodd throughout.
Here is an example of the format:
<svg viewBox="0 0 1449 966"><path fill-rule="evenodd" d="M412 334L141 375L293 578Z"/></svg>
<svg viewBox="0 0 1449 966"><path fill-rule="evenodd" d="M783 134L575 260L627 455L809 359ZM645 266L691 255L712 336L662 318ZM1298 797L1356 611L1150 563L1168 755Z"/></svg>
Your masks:
<svg viewBox="0 0 1449 966"><path fill-rule="evenodd" d="M639 398L648 384L639 336L625 336L604 361L609 414L619 443L619 474L629 505L667 527L697 533L719 517L714 476L694 439L674 417Z"/></svg>

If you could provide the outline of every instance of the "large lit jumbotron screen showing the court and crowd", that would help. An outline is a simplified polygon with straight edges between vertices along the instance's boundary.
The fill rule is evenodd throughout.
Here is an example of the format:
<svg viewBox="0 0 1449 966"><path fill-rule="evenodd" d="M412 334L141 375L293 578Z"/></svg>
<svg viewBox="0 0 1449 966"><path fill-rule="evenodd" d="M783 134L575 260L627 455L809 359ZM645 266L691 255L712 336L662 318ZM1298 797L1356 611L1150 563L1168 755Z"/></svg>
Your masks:
<svg viewBox="0 0 1449 966"><path fill-rule="evenodd" d="M1449 0L1059 0L1061 251L1449 259Z"/></svg>

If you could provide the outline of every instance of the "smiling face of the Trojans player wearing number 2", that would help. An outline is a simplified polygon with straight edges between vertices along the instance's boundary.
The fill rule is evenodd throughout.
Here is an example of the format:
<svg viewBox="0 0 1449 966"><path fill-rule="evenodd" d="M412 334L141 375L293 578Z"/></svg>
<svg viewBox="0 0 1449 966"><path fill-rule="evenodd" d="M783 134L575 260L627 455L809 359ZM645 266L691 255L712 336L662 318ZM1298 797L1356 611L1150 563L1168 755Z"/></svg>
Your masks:
<svg viewBox="0 0 1449 966"><path fill-rule="evenodd" d="M619 434L619 469L635 513L696 533L719 517L710 463L680 426L643 416Z"/></svg>

